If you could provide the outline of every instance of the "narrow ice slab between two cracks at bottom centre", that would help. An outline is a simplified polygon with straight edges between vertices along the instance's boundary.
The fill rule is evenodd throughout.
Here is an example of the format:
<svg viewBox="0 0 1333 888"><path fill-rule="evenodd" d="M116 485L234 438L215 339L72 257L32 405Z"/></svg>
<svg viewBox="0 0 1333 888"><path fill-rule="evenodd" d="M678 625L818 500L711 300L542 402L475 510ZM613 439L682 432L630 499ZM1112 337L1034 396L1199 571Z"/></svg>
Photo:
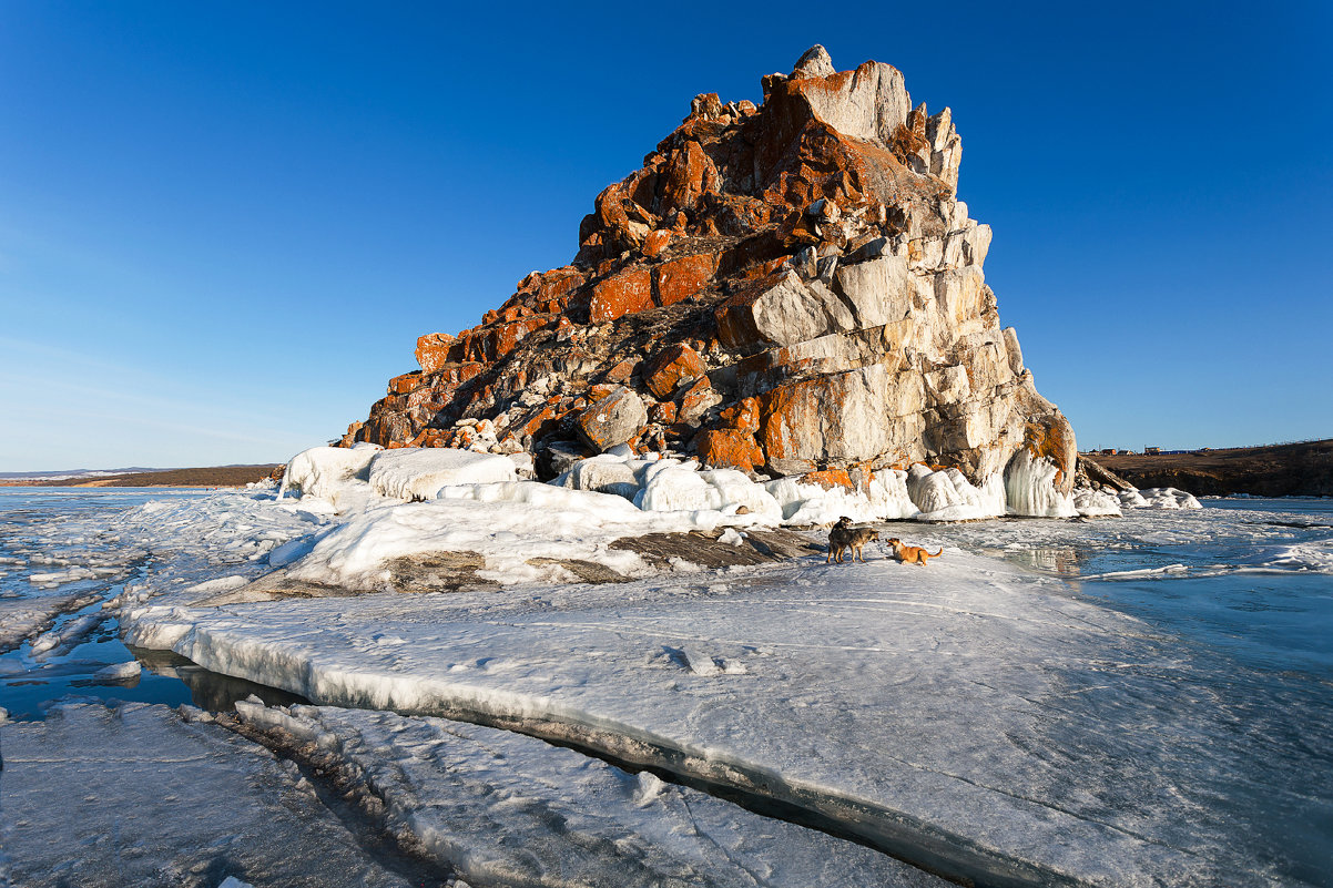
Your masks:
<svg viewBox="0 0 1333 888"><path fill-rule="evenodd" d="M869 848L508 731L237 704L475 884L937 887Z"/></svg>

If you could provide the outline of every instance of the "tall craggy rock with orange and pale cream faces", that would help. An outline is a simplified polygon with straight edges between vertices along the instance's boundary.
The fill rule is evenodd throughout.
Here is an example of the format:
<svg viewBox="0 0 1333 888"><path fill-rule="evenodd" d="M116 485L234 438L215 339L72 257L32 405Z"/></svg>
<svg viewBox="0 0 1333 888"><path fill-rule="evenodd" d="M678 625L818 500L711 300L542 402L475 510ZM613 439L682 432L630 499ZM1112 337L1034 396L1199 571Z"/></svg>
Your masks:
<svg viewBox="0 0 1333 888"><path fill-rule="evenodd" d="M344 443L539 467L625 444L852 484L925 463L1008 485L1010 511L1066 495L1074 436L1000 327L949 109L913 108L886 64L836 72L822 47L762 88L758 108L697 96L597 196L572 264L423 336L421 369Z"/></svg>

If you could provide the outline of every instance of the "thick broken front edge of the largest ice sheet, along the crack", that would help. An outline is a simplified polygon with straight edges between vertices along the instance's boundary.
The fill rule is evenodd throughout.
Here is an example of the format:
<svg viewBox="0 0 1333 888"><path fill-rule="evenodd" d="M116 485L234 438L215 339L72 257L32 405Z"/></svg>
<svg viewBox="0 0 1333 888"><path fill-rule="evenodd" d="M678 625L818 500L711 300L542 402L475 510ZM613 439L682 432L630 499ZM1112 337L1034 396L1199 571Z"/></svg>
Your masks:
<svg viewBox="0 0 1333 888"><path fill-rule="evenodd" d="M978 888L1166 884L1152 873L1134 873L1138 877L1129 881L1108 881L1062 872L1044 861L1014 859L920 817L845 793L802 785L733 755L692 751L669 737L563 705L549 696L323 664L308 648L199 627L180 608L147 608L133 613L129 623L132 628L127 640L132 644L172 649L207 669L299 693L315 704L441 716L515 731L628 765L656 768L697 788L724 788L757 803L753 807L762 808L764 803L774 801L789 805L806 815L805 825L853 837L962 884ZM1013 796L1006 801L1018 808L1030 807L1030 823L1044 821L1052 843L1086 829L1109 829L1105 824L1065 815L1036 801ZM1118 835L1117 839L1156 844L1129 835ZM1106 848L1112 855L1121 851Z"/></svg>

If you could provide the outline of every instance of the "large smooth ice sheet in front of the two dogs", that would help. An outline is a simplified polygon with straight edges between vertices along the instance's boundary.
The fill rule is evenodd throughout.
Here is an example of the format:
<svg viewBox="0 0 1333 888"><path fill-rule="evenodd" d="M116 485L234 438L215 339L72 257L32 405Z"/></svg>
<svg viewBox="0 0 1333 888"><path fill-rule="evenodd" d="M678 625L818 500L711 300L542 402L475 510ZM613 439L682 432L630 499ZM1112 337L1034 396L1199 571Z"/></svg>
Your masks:
<svg viewBox="0 0 1333 888"><path fill-rule="evenodd" d="M1245 831L1214 812L1256 739L1170 644L1062 589L945 547L925 569L818 563L129 623L136 644L320 703L467 715L769 795L958 877L1266 884Z"/></svg>

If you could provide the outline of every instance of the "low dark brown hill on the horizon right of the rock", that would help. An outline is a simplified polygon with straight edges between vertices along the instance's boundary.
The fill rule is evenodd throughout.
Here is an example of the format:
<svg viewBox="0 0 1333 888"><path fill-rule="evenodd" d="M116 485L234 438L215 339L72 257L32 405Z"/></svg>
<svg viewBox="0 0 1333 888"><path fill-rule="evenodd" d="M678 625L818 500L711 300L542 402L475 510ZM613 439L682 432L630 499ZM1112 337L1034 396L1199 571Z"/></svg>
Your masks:
<svg viewBox="0 0 1333 888"><path fill-rule="evenodd" d="M1194 496L1333 496L1333 439L1092 459L1138 488L1174 487Z"/></svg>

